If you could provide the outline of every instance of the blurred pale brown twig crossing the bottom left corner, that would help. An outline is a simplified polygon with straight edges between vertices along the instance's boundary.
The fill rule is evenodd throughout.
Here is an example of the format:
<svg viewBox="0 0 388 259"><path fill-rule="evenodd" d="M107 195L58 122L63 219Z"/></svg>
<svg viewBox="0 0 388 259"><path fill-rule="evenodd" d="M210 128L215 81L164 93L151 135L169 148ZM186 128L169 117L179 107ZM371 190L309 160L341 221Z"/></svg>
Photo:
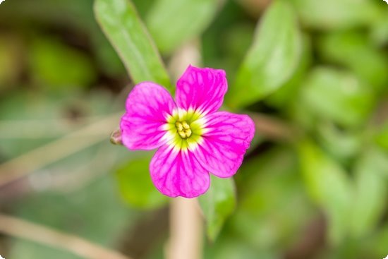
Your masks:
<svg viewBox="0 0 388 259"><path fill-rule="evenodd" d="M47 246L52 246L69 251L88 259L130 259L119 252L91 243L78 236L65 234L61 231L44 227L39 224L27 222L8 215L0 214L0 232L15 236L20 239L28 239Z"/></svg>

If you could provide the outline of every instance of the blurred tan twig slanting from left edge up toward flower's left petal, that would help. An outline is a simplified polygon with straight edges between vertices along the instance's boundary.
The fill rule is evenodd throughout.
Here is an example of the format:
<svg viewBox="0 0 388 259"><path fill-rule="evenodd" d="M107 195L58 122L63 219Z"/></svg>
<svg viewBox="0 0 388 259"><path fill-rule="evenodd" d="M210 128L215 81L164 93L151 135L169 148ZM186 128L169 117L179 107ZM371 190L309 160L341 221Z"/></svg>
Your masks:
<svg viewBox="0 0 388 259"><path fill-rule="evenodd" d="M115 128L121 114L122 112L107 116L100 121L65 135L59 140L54 140L47 145L37 147L35 150L0 164L0 186L83 150L85 147L90 147L104 139L108 139L109 133Z"/></svg>

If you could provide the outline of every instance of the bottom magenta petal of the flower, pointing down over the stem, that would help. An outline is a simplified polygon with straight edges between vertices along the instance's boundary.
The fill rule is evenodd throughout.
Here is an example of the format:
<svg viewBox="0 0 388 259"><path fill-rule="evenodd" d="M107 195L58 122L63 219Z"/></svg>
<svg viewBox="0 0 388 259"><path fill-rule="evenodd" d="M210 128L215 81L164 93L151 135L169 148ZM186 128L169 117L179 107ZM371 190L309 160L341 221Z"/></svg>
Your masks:
<svg viewBox="0 0 388 259"><path fill-rule="evenodd" d="M210 175L193 154L163 145L150 163L151 178L157 189L170 197L193 198L205 193Z"/></svg>

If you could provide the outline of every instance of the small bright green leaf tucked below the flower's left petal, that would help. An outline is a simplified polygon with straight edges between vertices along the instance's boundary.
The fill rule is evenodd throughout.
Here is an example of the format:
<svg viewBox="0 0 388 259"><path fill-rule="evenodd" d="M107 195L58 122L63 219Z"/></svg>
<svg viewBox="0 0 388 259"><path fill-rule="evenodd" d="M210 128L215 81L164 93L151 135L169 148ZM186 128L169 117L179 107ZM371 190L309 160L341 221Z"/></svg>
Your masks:
<svg viewBox="0 0 388 259"><path fill-rule="evenodd" d="M166 196L157 191L150 177L151 157L142 157L121 165L116 170L121 195L133 207L153 209L164 205Z"/></svg>

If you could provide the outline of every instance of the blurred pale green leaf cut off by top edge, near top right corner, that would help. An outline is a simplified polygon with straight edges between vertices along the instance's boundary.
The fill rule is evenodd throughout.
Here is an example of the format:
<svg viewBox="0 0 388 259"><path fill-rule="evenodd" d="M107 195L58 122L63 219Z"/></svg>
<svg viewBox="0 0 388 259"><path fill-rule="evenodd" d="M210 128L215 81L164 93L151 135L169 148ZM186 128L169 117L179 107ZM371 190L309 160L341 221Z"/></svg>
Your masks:
<svg viewBox="0 0 388 259"><path fill-rule="evenodd" d="M369 25L379 13L370 0L291 0L291 3L305 25L323 30Z"/></svg>

